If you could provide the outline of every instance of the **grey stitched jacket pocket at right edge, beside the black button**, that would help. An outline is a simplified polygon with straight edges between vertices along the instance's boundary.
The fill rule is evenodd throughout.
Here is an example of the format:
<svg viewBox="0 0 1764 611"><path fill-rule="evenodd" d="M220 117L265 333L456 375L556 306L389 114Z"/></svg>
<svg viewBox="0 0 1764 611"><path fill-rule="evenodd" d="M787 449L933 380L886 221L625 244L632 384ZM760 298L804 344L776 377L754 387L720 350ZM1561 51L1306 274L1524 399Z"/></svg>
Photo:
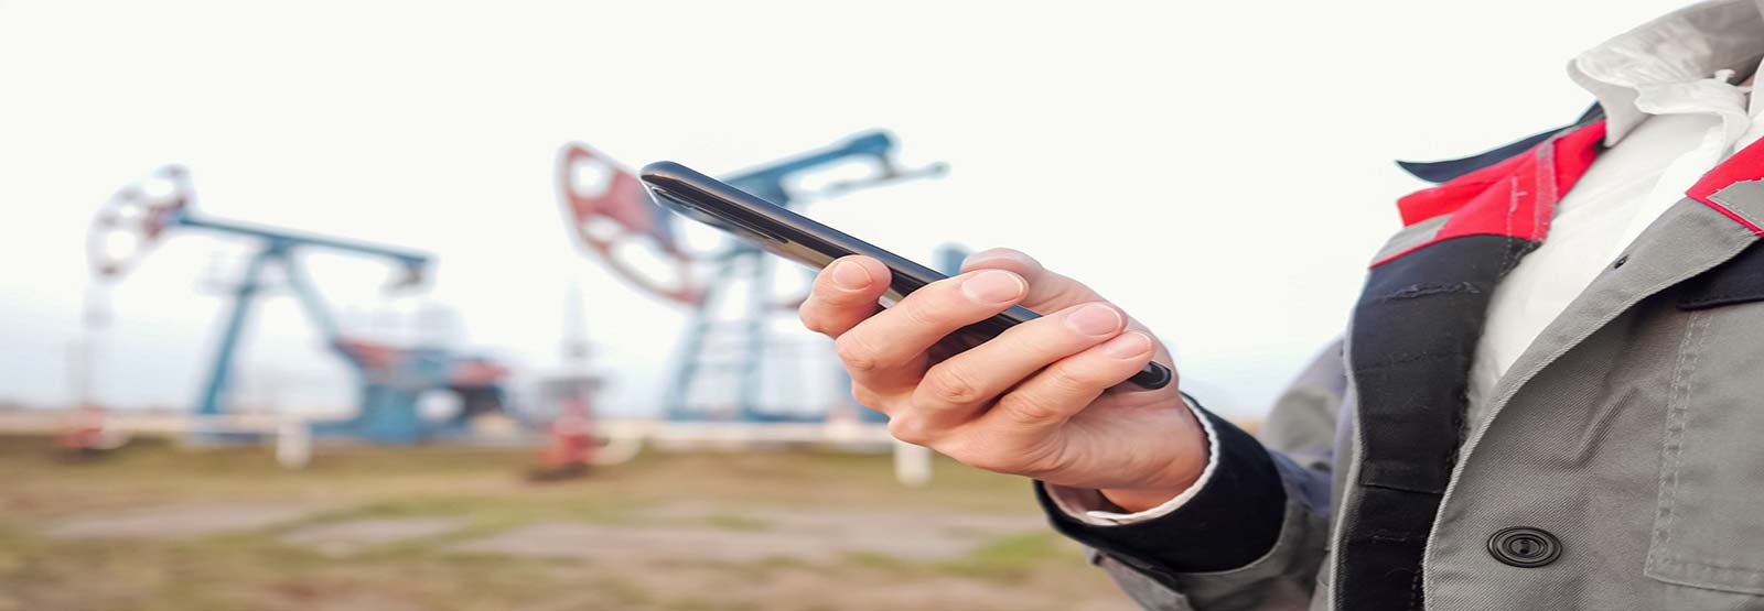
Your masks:
<svg viewBox="0 0 1764 611"><path fill-rule="evenodd" d="M1764 303L1697 308L1672 363L1644 571L1764 595Z"/></svg>

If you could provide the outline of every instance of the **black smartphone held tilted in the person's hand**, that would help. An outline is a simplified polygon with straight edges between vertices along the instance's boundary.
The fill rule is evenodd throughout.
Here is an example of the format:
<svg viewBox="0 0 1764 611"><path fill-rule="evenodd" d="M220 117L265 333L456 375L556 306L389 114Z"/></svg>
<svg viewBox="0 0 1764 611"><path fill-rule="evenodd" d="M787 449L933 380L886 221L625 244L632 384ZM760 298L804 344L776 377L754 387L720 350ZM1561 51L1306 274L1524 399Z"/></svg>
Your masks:
<svg viewBox="0 0 1764 611"><path fill-rule="evenodd" d="M644 166L640 178L656 202L810 268L820 269L847 255L875 257L891 271L889 289L884 296L894 301L919 291L919 287L947 278L931 268L847 236L676 162ZM1039 317L1025 306L1011 306L1011 310L970 324L958 333L967 335L968 342L979 343ZM1170 368L1157 363L1147 363L1140 373L1127 379L1143 389L1161 389L1170 386Z"/></svg>

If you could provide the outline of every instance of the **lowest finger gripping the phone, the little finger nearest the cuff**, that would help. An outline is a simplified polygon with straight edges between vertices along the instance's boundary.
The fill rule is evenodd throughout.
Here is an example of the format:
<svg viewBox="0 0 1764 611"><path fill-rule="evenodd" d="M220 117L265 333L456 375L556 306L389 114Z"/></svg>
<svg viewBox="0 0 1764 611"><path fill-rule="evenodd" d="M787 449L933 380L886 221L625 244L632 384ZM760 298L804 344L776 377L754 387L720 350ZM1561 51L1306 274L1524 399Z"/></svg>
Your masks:
<svg viewBox="0 0 1764 611"><path fill-rule="evenodd" d="M981 423L1020 431L1058 428L1104 391L1138 373L1152 361L1154 350L1152 336L1122 333L1035 373L998 398L998 405L981 416Z"/></svg>

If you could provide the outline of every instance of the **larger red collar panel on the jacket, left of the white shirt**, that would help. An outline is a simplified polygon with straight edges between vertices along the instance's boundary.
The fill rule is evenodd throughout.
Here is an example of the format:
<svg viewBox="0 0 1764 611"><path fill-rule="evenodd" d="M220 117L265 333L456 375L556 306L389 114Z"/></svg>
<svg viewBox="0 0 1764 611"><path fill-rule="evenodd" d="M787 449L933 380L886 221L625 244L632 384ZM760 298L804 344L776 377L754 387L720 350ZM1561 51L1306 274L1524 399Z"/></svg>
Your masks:
<svg viewBox="0 0 1764 611"><path fill-rule="evenodd" d="M1605 121L1577 127L1499 164L1399 199L1404 227L1427 222L1436 231L1413 247L1381 255L1372 266L1462 236L1544 241L1556 202L1593 166L1603 137ZM1764 150L1759 155L1764 160ZM1764 164L1755 171L1764 173Z"/></svg>

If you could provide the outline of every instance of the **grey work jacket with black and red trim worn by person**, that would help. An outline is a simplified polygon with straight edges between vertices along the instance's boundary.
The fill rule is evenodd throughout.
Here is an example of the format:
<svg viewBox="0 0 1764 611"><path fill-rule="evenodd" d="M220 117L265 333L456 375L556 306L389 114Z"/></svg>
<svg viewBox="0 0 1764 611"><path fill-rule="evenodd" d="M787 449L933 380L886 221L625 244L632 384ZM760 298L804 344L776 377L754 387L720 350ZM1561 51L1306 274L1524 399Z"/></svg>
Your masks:
<svg viewBox="0 0 1764 611"><path fill-rule="evenodd" d="M1418 222L1259 440L1203 414L1219 463L1185 505L1118 526L1043 505L1147 609L1764 609L1760 178L1760 146L1704 178L1482 421L1471 350L1529 248Z"/></svg>

